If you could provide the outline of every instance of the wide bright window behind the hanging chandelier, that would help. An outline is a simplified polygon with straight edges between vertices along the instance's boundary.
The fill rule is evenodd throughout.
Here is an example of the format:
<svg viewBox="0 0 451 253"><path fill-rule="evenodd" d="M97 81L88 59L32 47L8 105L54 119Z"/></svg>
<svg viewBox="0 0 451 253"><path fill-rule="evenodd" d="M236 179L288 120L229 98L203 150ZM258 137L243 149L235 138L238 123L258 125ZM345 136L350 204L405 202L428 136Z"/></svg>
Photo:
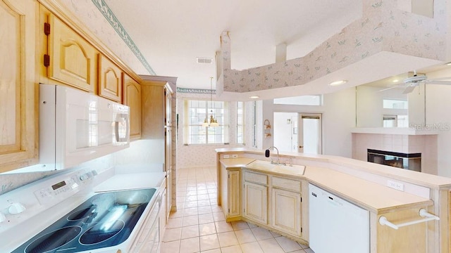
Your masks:
<svg viewBox="0 0 451 253"><path fill-rule="evenodd" d="M223 101L185 100L185 143L186 144L217 144L227 143L226 112L227 103ZM211 115L219 126L202 127L204 119Z"/></svg>

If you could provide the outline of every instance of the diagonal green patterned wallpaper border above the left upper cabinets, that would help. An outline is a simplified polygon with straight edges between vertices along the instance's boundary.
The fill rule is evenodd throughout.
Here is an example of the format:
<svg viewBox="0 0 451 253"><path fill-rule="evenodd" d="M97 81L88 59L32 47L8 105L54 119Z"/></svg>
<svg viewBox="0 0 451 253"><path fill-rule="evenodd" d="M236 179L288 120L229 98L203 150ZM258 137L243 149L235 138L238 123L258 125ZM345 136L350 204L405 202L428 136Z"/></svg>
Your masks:
<svg viewBox="0 0 451 253"><path fill-rule="evenodd" d="M94 6L96 6L100 13L104 15L106 20L110 23L111 27L116 30L119 37L123 39L125 44L130 48L130 50L135 54L135 56L140 60L142 65L146 68L147 71L149 71L149 74L156 75L152 67L147 63L147 60L142 55L139 48L137 48L135 42L130 38L127 31L125 31L125 28L122 26L121 22L116 18L116 15L114 15L113 11L109 8L109 6L105 3L104 0L92 0L92 3Z"/></svg>

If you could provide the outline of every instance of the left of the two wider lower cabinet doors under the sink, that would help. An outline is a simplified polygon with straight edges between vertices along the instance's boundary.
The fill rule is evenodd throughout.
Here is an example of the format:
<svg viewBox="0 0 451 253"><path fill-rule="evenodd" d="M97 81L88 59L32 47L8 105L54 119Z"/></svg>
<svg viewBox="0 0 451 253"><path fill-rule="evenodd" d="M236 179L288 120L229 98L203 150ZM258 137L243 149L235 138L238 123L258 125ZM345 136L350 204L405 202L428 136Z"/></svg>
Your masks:
<svg viewBox="0 0 451 253"><path fill-rule="evenodd" d="M243 215L260 223L268 223L268 187L245 182Z"/></svg>

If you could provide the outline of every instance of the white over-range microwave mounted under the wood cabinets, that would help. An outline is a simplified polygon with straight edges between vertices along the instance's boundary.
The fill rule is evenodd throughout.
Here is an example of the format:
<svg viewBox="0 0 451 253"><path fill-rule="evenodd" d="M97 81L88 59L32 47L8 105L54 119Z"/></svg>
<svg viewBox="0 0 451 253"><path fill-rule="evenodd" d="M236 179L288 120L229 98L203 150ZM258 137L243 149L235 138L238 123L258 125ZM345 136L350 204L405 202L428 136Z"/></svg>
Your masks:
<svg viewBox="0 0 451 253"><path fill-rule="evenodd" d="M66 169L130 145L130 108L68 86L39 84L39 164Z"/></svg>

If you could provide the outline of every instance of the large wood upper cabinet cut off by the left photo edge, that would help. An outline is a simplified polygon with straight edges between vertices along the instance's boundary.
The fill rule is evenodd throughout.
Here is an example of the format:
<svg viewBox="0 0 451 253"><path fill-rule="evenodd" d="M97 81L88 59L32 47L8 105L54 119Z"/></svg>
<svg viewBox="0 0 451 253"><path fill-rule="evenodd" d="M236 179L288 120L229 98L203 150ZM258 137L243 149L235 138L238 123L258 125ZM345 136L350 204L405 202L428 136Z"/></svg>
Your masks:
<svg viewBox="0 0 451 253"><path fill-rule="evenodd" d="M36 8L0 0L0 172L37 162Z"/></svg>

